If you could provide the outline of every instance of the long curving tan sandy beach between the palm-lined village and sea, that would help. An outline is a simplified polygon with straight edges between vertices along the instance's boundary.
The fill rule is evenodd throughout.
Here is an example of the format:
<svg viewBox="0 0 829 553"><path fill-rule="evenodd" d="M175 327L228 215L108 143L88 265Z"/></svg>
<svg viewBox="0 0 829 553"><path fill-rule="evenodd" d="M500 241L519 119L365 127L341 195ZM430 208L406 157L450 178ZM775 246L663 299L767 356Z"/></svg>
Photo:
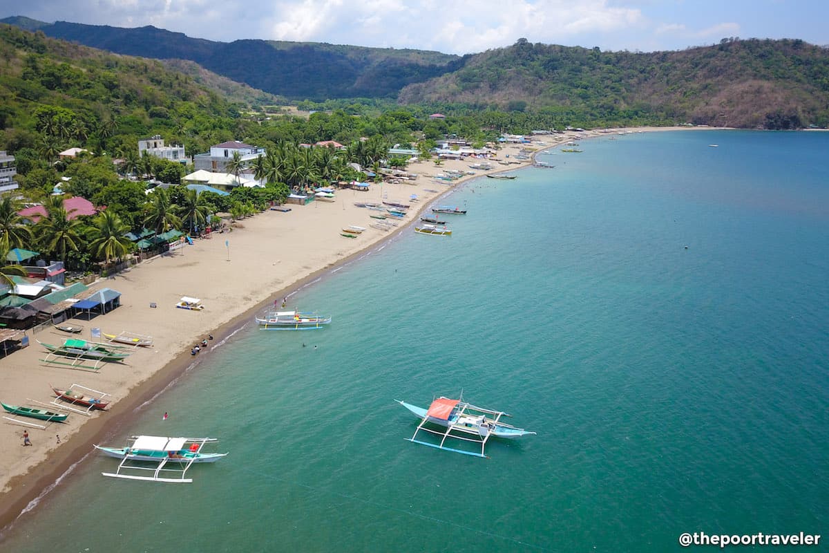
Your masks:
<svg viewBox="0 0 829 553"><path fill-rule="evenodd" d="M678 130L687 127L633 129ZM568 132L536 137L545 143L508 144L498 152L497 160L514 160L521 148L539 151L583 138L605 136L625 129ZM507 155L509 157L507 158ZM0 528L14 521L33 499L50 488L72 463L90 454L92 444L106 441L124 424L128 424L139 407L180 376L192 363L211 355L211 347L221 342L241 324L257 313L288 298L288 308L324 306L297 305L292 293L303 284L337 264L353 259L363 250L401 231L410 231L420 211L433 206L459 183L483 174L509 172L533 163L532 159L499 165L490 171L477 171L452 184L439 184L433 177L447 169L469 171L469 164L484 160L446 161L436 167L432 161L408 167L419 177L401 184L372 184L368 192L343 190L334 201L313 201L307 206L289 206L288 212L264 211L238 221L231 232L213 235L209 240L195 240L167 255L154 257L127 271L100 279L90 290L111 288L119 291L121 306L92 320L73 319L85 327L79 337L90 339L90 328L102 332L137 332L153 337L153 347L138 348L124 364L105 363L99 371L84 371L41 362L46 352L36 342L62 343L73 337L51 327L36 334L28 331L31 345L0 360L0 400L12 405L32 405L32 400L48 403L53 399L50 385L68 387L74 383L109 393L109 410L95 411L90 417L70 414L65 424L48 424L46 429L27 428L9 420L0 424ZM419 201L410 202L411 194ZM411 203L399 226L388 232L371 228L366 208L355 201L393 201ZM450 201L449 201L450 202ZM340 233L345 226L366 227L356 238ZM226 245L225 245L226 241ZM175 307L182 296L201 298L204 311ZM151 307L154 304L155 307ZM337 314L333 324L337 324ZM191 348L212 335L208 346L196 356ZM42 405L39 405L42 406ZM149 407L152 408L152 407ZM2 415L7 415L5 412ZM22 419L39 422L32 419ZM27 429L31 447L23 446L22 433ZM60 444L58 443L60 437Z"/></svg>

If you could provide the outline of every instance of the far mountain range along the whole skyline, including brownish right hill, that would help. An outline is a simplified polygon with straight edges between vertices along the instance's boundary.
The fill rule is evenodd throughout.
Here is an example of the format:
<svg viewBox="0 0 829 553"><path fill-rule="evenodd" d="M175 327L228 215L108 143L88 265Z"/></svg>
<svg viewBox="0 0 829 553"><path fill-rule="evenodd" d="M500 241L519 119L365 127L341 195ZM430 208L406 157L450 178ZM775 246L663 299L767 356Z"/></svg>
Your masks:
<svg viewBox="0 0 829 553"><path fill-rule="evenodd" d="M213 42L156 27L49 24L22 17L2 22L120 54L174 55L292 101L330 105L363 98L446 114L527 110L548 120L597 125L829 125L829 50L791 39L732 38L715 46L647 53L520 39L458 57L313 42Z"/></svg>

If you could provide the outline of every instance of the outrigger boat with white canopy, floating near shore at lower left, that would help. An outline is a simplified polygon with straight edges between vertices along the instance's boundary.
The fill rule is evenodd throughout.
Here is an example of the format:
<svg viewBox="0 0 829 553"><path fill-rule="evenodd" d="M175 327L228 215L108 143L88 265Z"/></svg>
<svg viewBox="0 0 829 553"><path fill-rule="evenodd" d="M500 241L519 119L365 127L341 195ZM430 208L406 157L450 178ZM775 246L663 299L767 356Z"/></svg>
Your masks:
<svg viewBox="0 0 829 553"><path fill-rule="evenodd" d="M101 473L112 478L148 480L150 482L189 483L184 478L193 463L216 463L227 454L207 454L201 449L216 438L167 438L165 436L133 436L124 448L110 448L95 444L104 455L121 459L114 473ZM134 463L130 463L134 462ZM124 471L150 471L153 476L138 476ZM162 478L162 473L180 473L179 478Z"/></svg>

